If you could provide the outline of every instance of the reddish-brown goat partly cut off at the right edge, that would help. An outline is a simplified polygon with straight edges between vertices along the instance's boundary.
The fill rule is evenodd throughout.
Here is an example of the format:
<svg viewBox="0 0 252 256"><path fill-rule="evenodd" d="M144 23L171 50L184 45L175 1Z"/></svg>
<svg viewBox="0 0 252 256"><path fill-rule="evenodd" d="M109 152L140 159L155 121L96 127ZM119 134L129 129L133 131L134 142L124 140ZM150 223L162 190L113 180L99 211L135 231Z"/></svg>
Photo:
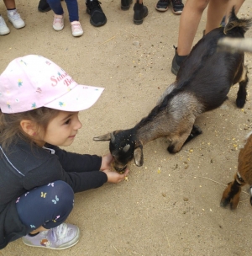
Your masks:
<svg viewBox="0 0 252 256"><path fill-rule="evenodd" d="M220 205L222 207L230 204L230 209L234 210L239 204L241 187L249 184L250 205L252 205L252 132L248 135L247 141L239 151L238 172L234 174L234 181L228 183L228 187L223 192Z"/></svg>

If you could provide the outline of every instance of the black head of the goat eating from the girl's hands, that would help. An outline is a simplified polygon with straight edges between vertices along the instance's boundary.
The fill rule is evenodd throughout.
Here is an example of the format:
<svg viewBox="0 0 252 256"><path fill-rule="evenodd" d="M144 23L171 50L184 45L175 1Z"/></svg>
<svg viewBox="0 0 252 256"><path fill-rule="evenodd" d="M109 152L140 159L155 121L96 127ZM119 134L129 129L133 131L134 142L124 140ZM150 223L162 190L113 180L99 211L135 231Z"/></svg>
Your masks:
<svg viewBox="0 0 252 256"><path fill-rule="evenodd" d="M123 173L134 158L137 166L144 163L143 145L136 139L133 129L124 131L113 131L111 133L94 137L94 141L110 141L109 151L114 157L114 168L118 173Z"/></svg>

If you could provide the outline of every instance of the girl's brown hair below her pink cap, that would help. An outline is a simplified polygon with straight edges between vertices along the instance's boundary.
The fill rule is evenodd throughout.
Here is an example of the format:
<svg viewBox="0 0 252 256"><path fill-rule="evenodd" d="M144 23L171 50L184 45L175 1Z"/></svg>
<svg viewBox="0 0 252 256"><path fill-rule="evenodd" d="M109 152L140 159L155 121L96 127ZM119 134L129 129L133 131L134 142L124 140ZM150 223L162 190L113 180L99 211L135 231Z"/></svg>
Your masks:
<svg viewBox="0 0 252 256"><path fill-rule="evenodd" d="M33 121L39 130L46 131L50 120L58 115L59 112L60 110L45 107L15 114L4 114L0 110L0 145L8 149L18 139L32 142L21 128L20 122L22 120Z"/></svg>

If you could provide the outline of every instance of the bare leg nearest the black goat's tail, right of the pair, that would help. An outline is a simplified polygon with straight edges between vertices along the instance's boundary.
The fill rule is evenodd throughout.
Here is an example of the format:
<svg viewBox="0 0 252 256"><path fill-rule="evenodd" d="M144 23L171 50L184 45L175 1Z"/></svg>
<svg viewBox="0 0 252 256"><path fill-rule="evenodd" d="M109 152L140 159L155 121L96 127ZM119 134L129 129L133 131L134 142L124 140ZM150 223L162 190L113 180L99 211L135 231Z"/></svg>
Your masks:
<svg viewBox="0 0 252 256"><path fill-rule="evenodd" d="M207 24L205 35L213 29L219 27L223 16L228 8L229 0L210 0L207 8Z"/></svg>

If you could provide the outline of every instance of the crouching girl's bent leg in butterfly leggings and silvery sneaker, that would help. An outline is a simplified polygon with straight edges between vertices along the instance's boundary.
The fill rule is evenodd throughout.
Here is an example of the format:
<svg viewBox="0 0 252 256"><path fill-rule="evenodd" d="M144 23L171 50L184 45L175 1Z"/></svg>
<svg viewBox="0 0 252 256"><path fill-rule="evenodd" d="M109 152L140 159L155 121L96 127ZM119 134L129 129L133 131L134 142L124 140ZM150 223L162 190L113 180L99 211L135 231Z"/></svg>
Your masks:
<svg viewBox="0 0 252 256"><path fill-rule="evenodd" d="M28 227L24 244L53 249L69 248L80 237L78 227L63 223L74 204L71 186L58 180L32 189L16 201L18 216Z"/></svg>

